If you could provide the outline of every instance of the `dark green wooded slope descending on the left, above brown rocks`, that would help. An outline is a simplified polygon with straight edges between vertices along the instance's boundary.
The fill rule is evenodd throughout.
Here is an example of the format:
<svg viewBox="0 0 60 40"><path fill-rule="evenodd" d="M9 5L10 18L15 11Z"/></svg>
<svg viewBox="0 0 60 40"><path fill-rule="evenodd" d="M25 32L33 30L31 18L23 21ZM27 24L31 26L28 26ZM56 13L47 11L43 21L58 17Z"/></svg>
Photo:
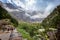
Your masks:
<svg viewBox="0 0 60 40"><path fill-rule="evenodd" d="M0 6L0 20L1 19L10 19L15 27L18 26L18 21L10 16L10 14Z"/></svg>

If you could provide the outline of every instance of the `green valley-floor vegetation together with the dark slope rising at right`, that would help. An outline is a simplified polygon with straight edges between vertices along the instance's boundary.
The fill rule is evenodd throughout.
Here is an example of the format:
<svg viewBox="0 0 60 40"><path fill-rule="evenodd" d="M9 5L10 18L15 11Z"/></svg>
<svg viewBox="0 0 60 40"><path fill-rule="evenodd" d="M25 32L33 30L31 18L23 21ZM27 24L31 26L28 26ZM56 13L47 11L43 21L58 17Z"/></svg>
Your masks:
<svg viewBox="0 0 60 40"><path fill-rule="evenodd" d="M60 25L60 6L55 8L53 12L43 20L42 23L20 23L17 29L19 29L19 32L22 33L23 37L27 38L28 37L32 38L30 40L57 40L56 38L56 30L58 28L59 32L59 27ZM27 33L26 36L25 34ZM51 34L49 34L51 33ZM59 35L59 34L58 34Z"/></svg>

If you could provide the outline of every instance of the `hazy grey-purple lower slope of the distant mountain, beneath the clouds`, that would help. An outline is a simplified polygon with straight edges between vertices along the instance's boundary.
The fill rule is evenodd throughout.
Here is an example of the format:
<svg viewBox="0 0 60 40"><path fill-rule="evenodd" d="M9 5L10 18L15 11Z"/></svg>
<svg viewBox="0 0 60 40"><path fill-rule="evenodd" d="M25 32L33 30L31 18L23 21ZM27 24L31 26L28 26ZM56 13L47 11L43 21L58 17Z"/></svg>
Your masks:
<svg viewBox="0 0 60 40"><path fill-rule="evenodd" d="M36 19L31 19L29 16L25 15L25 11L21 11L21 12L11 12L13 13L13 15L18 19L18 20L22 20L25 22L41 22L44 18L36 18ZM36 13L37 14L37 13ZM34 15L34 14L33 14Z"/></svg>

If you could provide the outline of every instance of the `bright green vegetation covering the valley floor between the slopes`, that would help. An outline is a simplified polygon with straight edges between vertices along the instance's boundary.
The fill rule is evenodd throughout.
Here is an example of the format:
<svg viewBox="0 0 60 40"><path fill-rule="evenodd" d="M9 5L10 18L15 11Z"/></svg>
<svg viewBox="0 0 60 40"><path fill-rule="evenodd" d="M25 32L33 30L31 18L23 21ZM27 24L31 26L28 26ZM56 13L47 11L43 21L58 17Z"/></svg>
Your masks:
<svg viewBox="0 0 60 40"><path fill-rule="evenodd" d="M26 38L27 40L39 40L46 37L44 27L42 27L40 23L21 22L18 25L17 30L22 34L23 38Z"/></svg>

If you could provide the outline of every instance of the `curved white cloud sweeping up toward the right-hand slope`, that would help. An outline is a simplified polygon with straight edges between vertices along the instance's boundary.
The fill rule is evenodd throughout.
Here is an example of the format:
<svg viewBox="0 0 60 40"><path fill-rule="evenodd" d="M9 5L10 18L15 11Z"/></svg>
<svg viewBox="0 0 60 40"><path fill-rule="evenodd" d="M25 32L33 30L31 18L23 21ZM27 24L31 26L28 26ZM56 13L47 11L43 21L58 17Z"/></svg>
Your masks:
<svg viewBox="0 0 60 40"><path fill-rule="evenodd" d="M48 6L45 8L44 13L37 13L36 15L30 16L31 19L36 19L36 18L46 18L53 10L54 5L53 4L48 4Z"/></svg>

